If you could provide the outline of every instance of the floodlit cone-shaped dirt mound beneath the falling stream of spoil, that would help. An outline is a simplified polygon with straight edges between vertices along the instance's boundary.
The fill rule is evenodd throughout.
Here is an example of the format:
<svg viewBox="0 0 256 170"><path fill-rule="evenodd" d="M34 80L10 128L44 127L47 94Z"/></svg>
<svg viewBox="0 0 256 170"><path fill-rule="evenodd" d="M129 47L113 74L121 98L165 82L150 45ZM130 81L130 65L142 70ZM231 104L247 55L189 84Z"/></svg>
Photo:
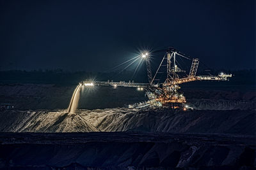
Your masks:
<svg viewBox="0 0 256 170"><path fill-rule="evenodd" d="M2 132L97 132L99 129L74 113L11 111L0 113Z"/></svg>

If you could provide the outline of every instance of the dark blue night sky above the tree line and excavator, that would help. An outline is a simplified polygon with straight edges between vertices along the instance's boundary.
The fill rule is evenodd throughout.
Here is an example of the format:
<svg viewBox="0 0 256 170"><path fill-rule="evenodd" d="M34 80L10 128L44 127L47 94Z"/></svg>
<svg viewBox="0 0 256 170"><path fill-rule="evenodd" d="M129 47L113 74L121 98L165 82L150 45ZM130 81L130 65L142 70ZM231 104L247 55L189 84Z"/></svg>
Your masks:
<svg viewBox="0 0 256 170"><path fill-rule="evenodd" d="M255 67L255 1L0 1L0 69L104 71L175 46L216 69Z"/></svg>

